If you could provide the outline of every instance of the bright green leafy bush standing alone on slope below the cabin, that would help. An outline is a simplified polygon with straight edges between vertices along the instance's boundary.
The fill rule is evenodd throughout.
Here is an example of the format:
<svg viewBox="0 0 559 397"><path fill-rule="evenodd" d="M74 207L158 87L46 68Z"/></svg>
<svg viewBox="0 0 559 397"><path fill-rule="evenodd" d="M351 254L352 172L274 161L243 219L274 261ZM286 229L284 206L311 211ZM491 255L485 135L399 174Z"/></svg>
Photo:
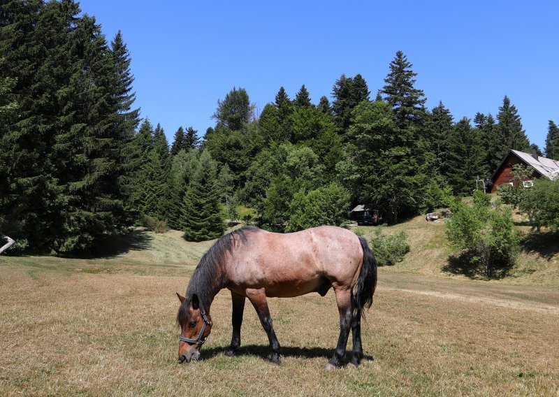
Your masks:
<svg viewBox="0 0 559 397"><path fill-rule="evenodd" d="M474 196L474 205L456 202L447 223L447 237L477 273L491 278L497 270L514 265L518 252L518 233L514 230L510 208L492 210L488 200Z"/></svg>

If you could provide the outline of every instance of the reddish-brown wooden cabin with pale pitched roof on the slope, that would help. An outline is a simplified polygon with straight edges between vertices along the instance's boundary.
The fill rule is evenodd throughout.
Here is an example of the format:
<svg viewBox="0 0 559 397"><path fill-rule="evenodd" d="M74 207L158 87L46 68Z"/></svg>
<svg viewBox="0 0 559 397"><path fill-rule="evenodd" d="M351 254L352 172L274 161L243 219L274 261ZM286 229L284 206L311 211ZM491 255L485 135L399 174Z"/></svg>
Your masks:
<svg viewBox="0 0 559 397"><path fill-rule="evenodd" d="M544 177L551 180L559 180L559 161L538 156L535 150L532 150L532 154L511 150L501 161L500 166L498 166L491 177L491 181L493 182L491 193L497 192L497 187L500 185L505 183L512 184L512 167L516 164L522 164L532 169L530 178L523 181L524 187L531 187L532 181L536 178Z"/></svg>

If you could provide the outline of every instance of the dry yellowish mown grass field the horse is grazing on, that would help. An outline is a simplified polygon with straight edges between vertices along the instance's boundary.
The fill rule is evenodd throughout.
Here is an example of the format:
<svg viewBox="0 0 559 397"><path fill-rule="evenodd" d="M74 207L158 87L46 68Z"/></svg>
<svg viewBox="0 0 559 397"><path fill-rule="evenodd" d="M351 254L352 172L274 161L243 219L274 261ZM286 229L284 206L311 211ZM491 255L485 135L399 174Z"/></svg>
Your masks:
<svg viewBox="0 0 559 397"><path fill-rule="evenodd" d="M227 291L212 305L203 361L177 363L175 291L211 243L137 231L103 259L0 257L0 395L559 396L556 249L521 254L515 277L471 280L442 271L444 224L416 218L386 231L401 228L412 251L379 269L363 324L367 359L330 373L332 291L270 299L280 367L266 361L268 339L249 304L241 354L224 356Z"/></svg>

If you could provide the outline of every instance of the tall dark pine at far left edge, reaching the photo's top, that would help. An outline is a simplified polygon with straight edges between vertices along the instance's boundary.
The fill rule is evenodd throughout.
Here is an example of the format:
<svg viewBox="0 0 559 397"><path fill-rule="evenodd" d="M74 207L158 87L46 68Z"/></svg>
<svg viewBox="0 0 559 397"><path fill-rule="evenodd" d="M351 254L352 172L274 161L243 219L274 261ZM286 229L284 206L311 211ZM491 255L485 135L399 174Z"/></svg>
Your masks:
<svg viewBox="0 0 559 397"><path fill-rule="evenodd" d="M55 64L53 58L67 43L67 26L57 7L50 5L48 13L45 8L41 0L0 3L0 76L15 83L10 91L18 108L17 119L0 125L0 173L6 175L0 182L0 214L11 219L6 233L16 240L26 238L36 251L48 249L57 217L48 161L57 113L52 86L60 73L66 75L63 69L70 61L60 57L50 76L43 68L45 59ZM52 23L45 23L47 18Z"/></svg>

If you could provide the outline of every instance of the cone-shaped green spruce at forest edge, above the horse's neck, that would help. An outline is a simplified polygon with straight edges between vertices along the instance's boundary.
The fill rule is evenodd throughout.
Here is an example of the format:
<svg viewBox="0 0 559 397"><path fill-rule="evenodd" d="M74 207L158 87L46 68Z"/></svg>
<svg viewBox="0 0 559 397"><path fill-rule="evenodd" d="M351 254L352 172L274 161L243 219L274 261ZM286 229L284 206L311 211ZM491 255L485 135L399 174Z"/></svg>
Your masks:
<svg viewBox="0 0 559 397"><path fill-rule="evenodd" d="M184 225L184 238L188 241L211 240L222 236L225 231L216 174L217 164L210 152L205 150L184 194L181 223Z"/></svg>

